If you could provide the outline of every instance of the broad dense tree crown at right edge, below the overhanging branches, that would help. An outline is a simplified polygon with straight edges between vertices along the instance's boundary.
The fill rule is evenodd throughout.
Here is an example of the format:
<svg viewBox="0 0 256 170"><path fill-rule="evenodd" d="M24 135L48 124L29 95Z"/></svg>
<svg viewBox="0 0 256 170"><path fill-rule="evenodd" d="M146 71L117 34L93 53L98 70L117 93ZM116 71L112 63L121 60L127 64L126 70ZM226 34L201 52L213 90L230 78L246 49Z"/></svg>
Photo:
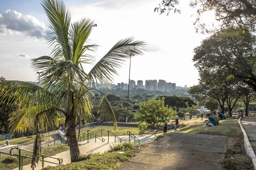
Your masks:
<svg viewBox="0 0 256 170"><path fill-rule="evenodd" d="M255 47L255 35L239 28L227 28L196 47L193 61L200 76L228 71L256 91Z"/></svg>

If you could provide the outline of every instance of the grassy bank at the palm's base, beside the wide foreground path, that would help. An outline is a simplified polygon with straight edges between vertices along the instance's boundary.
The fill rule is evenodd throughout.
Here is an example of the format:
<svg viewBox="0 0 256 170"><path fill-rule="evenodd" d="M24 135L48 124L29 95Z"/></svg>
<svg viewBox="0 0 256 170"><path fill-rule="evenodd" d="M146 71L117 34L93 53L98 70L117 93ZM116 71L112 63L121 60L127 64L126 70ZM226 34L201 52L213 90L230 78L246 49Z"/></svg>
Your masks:
<svg viewBox="0 0 256 170"><path fill-rule="evenodd" d="M142 147L142 146L140 146ZM79 162L74 162L55 167L45 167L43 170L112 170L125 161L128 161L139 150L131 142L116 144L108 152L81 155ZM123 151L125 153L118 153Z"/></svg>

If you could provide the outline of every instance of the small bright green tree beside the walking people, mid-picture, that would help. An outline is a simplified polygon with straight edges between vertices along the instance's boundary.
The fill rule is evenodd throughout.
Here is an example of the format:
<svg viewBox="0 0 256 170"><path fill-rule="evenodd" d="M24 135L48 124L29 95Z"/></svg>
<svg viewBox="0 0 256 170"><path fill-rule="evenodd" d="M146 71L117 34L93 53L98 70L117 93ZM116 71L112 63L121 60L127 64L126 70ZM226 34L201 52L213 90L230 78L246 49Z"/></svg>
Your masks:
<svg viewBox="0 0 256 170"><path fill-rule="evenodd" d="M140 111L136 112L134 118L148 125L156 123L158 130L160 123L165 122L168 117L175 116L177 116L177 112L165 106L164 98L159 100L153 98L147 102L140 103Z"/></svg>

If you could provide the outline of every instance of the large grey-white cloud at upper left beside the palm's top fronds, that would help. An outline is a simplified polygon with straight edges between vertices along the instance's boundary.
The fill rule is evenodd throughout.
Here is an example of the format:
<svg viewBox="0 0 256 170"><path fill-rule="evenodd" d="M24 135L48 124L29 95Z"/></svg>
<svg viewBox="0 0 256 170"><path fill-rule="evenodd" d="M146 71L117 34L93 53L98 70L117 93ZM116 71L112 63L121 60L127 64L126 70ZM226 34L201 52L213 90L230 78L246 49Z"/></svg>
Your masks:
<svg viewBox="0 0 256 170"><path fill-rule="evenodd" d="M5 13L0 14L0 33L7 34L11 31L37 38L47 36L47 29L43 21L31 15L22 15L8 9Z"/></svg>

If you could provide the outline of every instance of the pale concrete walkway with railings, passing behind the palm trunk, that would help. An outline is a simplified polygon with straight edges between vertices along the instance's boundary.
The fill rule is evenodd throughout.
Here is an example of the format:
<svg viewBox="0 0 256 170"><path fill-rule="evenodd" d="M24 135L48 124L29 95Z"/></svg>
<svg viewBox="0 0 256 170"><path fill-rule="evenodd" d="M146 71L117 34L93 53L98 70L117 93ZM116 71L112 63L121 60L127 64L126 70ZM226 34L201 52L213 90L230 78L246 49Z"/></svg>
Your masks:
<svg viewBox="0 0 256 170"><path fill-rule="evenodd" d="M135 135L138 139L140 139L140 144L143 143L148 143L148 142L153 142L157 136L160 134L156 134L156 135ZM122 142L126 142L129 140L129 136L119 136L122 140ZM106 150L109 150L109 145L113 145L115 138L113 136L109 136L109 143L108 143L108 136L103 136L102 138L105 139L105 142L101 142L99 139L90 139L89 143L87 143L87 140L84 142L79 142L79 144L81 144L79 146L80 148L80 153L81 154L88 154L88 153L95 153L95 152L100 152L103 153ZM117 143L120 143L117 139L116 139ZM58 153L55 156L52 156L55 158L62 158L63 159L63 163L62 164L68 164L70 163L70 150L66 150L62 153ZM52 158L46 158L44 159L45 161L51 161L51 162L56 162L58 163L58 161L56 159L52 159ZM44 167L47 167L48 165L50 166L54 166L54 164L50 164L47 162L44 162ZM24 165L23 166L23 170L31 170L30 168L30 164L29 165ZM42 163L39 162L37 167L35 168L35 170L40 170L42 167ZM18 168L16 168L15 170L18 170Z"/></svg>

